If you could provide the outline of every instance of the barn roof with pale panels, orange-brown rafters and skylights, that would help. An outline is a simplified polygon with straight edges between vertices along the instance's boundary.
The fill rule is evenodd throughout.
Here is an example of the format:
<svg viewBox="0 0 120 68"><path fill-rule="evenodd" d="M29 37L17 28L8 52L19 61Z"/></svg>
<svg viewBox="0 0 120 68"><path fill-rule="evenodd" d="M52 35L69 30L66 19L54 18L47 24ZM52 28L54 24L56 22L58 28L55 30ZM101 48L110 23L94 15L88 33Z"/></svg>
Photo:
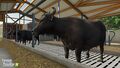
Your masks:
<svg viewBox="0 0 120 68"><path fill-rule="evenodd" d="M21 12L25 14L41 0L0 0L0 12ZM82 11L90 19L120 14L120 0L45 0L41 5L32 10L29 15L35 14L40 19L45 12L52 11L51 7L58 9L60 1L60 17L80 17ZM9 7L7 7L9 6ZM58 13L56 13L56 16Z"/></svg>

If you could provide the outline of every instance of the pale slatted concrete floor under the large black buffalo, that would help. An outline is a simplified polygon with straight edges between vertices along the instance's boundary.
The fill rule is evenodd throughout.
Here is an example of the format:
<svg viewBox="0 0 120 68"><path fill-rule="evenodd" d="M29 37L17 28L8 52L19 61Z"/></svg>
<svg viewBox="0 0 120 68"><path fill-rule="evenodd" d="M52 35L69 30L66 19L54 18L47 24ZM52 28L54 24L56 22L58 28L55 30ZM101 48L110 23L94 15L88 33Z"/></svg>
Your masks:
<svg viewBox="0 0 120 68"><path fill-rule="evenodd" d="M31 44L26 44L24 46L31 47ZM40 45L35 45L36 50L41 50L41 51L46 51L49 54L52 54L54 56L59 56L64 58L64 49L63 47L60 46L53 46L50 44L40 44ZM97 52L90 52L90 58L86 59L86 52L82 52L82 60L81 64L88 65L93 68L120 68L120 56L114 56L110 54L104 54L104 63L98 62L100 53ZM75 61L75 54L74 51L70 51L70 57L69 60Z"/></svg>

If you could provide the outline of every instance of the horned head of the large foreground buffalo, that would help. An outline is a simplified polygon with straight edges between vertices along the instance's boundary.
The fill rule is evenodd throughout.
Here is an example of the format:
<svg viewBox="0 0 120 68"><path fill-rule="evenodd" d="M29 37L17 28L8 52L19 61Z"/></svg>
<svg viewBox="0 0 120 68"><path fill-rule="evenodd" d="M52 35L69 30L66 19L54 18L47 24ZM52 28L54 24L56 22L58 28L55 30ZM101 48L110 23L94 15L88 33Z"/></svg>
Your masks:
<svg viewBox="0 0 120 68"><path fill-rule="evenodd" d="M56 13L56 9L53 7L53 12L44 13L41 17L40 23L33 29L33 35L38 37L39 34L49 33L54 26L53 18Z"/></svg>

